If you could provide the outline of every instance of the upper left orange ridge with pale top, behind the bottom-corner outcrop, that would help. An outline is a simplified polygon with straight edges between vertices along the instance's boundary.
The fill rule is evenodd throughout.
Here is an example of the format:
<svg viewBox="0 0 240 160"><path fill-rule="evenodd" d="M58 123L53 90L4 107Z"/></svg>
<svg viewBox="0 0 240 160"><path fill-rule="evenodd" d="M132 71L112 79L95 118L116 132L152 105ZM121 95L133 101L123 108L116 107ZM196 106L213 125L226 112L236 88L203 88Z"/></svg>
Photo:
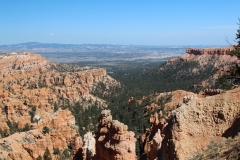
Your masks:
<svg viewBox="0 0 240 160"><path fill-rule="evenodd" d="M54 106L71 105L82 99L105 101L90 94L102 82L106 88L119 83L105 69L62 71L38 54L22 52L0 55L0 122L16 122L19 128L33 117L47 117ZM59 71L61 70L61 71ZM24 118L21 118L24 117Z"/></svg>

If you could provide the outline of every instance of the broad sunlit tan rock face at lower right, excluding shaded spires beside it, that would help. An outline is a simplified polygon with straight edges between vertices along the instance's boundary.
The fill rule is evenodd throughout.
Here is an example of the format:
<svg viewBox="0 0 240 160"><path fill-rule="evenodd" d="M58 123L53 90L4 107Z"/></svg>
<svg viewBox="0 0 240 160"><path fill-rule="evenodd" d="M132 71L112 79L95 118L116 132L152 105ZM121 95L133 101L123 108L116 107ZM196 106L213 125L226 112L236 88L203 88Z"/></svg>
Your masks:
<svg viewBox="0 0 240 160"><path fill-rule="evenodd" d="M240 117L240 88L183 104L173 112L172 143L176 157L189 158L203 150L211 141L233 137L229 132Z"/></svg>

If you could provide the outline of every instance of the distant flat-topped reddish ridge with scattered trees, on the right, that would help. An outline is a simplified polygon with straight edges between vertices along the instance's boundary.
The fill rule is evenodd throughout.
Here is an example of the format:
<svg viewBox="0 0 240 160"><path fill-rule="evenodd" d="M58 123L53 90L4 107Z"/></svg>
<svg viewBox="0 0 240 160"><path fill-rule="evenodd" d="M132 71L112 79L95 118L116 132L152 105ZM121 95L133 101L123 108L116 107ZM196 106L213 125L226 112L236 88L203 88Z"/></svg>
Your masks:
<svg viewBox="0 0 240 160"><path fill-rule="evenodd" d="M170 59L167 61L166 66L176 67L179 64L191 64L194 67L188 66L187 70L184 70L182 76L194 75L204 77L209 75L198 84L194 84L192 87L195 89L211 88L217 82L219 76L229 74L230 67L233 64L240 64L240 61L236 56L231 56L230 52L234 47L226 48L188 48L186 53L181 57ZM159 68L159 71L164 70L164 67ZM179 74L180 75L180 74Z"/></svg>

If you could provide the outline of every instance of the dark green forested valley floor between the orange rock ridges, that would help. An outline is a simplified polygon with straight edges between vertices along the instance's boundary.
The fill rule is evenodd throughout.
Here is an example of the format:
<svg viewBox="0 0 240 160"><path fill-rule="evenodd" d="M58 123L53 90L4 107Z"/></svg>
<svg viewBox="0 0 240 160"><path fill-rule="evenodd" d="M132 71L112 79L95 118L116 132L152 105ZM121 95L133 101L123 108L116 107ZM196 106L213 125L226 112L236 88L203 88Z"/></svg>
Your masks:
<svg viewBox="0 0 240 160"><path fill-rule="evenodd" d="M162 92L171 93L171 91L180 89L197 93L202 88L194 88L193 85L207 79L215 71L209 64L198 73L193 74L192 69L199 68L198 65L197 62L177 60L173 65L164 62L161 64L98 66L106 68L109 75L118 80L121 86L110 88L110 93L105 94L106 86L99 83L97 89L91 94L105 100L113 119L128 125L129 130L135 133L138 139L136 152L137 155L140 155L143 153L143 148L139 135L145 133L146 128L150 127L150 115L161 111L162 117L166 116L165 103L171 100L171 94L161 97L157 101L154 99L154 95ZM129 101L129 98L132 99ZM98 117L102 108L94 102L91 103L91 107L88 108L83 108L78 102L74 106L68 107L76 118L81 136L87 131L97 131ZM156 103L159 108L147 110L146 106L152 103Z"/></svg>

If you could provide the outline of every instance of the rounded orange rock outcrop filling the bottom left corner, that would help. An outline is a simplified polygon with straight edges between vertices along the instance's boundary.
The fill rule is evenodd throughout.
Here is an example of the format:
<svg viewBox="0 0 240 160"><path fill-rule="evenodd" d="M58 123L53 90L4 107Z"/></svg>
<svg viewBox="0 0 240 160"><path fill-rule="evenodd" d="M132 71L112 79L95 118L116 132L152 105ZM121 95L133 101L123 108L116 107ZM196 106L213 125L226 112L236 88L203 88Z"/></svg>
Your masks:
<svg viewBox="0 0 240 160"><path fill-rule="evenodd" d="M69 110L58 110L31 127L30 131L0 139L0 158L32 160L38 156L43 157L46 148L50 150L52 157L57 158L53 154L54 148L60 151L67 149L76 135L75 118ZM47 127L49 131L44 133L43 127Z"/></svg>

